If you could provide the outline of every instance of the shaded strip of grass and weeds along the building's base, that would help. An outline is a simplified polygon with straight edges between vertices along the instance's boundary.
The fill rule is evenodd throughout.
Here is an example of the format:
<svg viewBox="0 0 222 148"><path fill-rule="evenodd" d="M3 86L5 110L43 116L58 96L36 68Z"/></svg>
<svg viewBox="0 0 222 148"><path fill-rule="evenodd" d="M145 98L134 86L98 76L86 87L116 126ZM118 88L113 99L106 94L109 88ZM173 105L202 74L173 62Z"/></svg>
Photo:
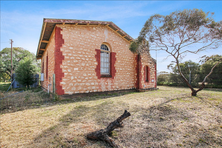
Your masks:
<svg viewBox="0 0 222 148"><path fill-rule="evenodd" d="M92 93L79 94L70 96L61 96L59 100L53 99L53 94L48 94L39 88L24 91L16 96L7 97L0 100L0 113L12 113L27 109L36 109L43 107L55 106L58 104L68 104L75 102L88 102L101 99L108 99L111 97L120 97L127 94L140 93L133 91L113 92L113 93Z"/></svg>

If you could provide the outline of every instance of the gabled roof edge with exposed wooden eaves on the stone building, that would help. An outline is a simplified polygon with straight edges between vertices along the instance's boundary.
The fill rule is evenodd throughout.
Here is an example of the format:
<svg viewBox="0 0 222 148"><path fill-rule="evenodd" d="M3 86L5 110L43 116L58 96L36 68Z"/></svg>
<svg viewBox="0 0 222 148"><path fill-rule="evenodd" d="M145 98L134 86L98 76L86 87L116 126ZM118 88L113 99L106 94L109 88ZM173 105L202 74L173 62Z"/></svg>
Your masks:
<svg viewBox="0 0 222 148"><path fill-rule="evenodd" d="M122 38L127 41L132 41L133 38L125 33L122 29L116 26L113 22L107 21L90 21L90 20L74 20L74 19L43 19L42 31L39 39L39 44L37 47L36 58L40 59L46 50L47 44L49 43L49 39L51 34L56 26L56 24L71 24L71 25L104 25L108 26L112 30L114 30L117 34L119 34Z"/></svg>

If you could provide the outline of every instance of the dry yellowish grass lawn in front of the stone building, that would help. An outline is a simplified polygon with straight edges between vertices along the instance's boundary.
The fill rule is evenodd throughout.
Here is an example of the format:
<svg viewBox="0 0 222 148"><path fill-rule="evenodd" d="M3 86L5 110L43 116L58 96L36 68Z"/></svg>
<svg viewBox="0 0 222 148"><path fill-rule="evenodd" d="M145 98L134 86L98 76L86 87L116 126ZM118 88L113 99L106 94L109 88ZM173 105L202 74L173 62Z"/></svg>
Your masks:
<svg viewBox="0 0 222 148"><path fill-rule="evenodd" d="M120 147L222 147L222 90L197 97L188 88L94 95L0 114L0 147L109 147L86 134L105 128L124 110L131 116L112 139Z"/></svg>

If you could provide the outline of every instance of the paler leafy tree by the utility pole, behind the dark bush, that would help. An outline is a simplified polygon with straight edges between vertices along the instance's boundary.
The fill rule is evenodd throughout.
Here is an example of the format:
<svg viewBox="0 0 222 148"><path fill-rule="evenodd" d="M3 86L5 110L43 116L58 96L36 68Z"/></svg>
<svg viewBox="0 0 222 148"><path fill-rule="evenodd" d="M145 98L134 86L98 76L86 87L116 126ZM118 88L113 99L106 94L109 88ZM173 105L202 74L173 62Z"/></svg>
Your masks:
<svg viewBox="0 0 222 148"><path fill-rule="evenodd" d="M13 71L16 70L18 63L21 60L23 60L25 57L28 57L32 59L35 65L37 65L38 72L40 72L40 63L36 62L36 58L33 53L30 53L28 50L25 50L21 47L14 47L12 52ZM11 48L4 48L2 51L0 51L0 73L4 74L4 76L9 79L11 78Z"/></svg>

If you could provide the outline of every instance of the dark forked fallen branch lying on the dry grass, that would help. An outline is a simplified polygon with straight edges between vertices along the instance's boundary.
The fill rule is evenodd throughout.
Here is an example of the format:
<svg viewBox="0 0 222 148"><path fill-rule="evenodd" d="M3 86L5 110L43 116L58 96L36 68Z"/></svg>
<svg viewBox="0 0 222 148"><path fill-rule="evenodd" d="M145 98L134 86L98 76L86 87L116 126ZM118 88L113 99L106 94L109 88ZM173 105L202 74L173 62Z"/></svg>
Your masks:
<svg viewBox="0 0 222 148"><path fill-rule="evenodd" d="M87 134L87 139L90 140L102 140L108 142L112 147L117 148L118 146L109 137L111 132L118 127L123 127L123 120L130 116L130 113L125 110L125 112L117 118L115 121L111 122L105 129L101 129L92 133Z"/></svg>

